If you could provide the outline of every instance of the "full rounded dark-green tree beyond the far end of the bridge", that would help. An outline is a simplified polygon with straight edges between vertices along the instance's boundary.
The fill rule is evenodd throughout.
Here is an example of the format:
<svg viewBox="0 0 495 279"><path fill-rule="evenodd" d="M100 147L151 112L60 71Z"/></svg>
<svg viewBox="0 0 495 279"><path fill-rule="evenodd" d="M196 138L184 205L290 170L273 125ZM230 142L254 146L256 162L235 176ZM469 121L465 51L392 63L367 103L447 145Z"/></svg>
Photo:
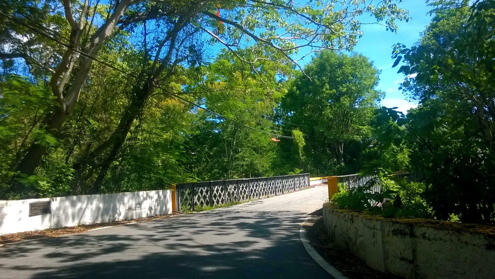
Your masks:
<svg viewBox="0 0 495 279"><path fill-rule="evenodd" d="M289 122L301 125L306 155L318 173L352 171L336 165L352 162L345 148L360 149L361 139L371 136L375 103L383 95L375 90L379 71L362 55L322 51L304 73L289 82L282 110Z"/></svg>

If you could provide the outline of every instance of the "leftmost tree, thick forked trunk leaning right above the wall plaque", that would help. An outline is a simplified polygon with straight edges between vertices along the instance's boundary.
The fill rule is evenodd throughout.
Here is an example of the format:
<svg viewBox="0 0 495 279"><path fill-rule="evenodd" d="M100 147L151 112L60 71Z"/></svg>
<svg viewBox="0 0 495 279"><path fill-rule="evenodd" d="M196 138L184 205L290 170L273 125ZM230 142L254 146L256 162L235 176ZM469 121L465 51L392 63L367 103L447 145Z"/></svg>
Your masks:
<svg viewBox="0 0 495 279"><path fill-rule="evenodd" d="M14 23L17 23L26 29L22 30L21 33L17 33L12 35L12 37L24 36L24 37L35 37L39 39L39 36L31 36L34 33L36 35L41 35L45 37L49 37L53 39L53 41L58 41L51 37L52 35L47 34L46 27L33 27L30 24L24 22L24 20L19 19L16 16L10 16L9 13L19 12L18 9L25 9L23 4L27 5L27 2L21 3L20 6L7 7L1 5L2 11L1 14L5 17L5 19L10 19ZM131 0L123 0L114 5L110 5L108 7L108 12L106 16L102 18L106 18L103 24L100 26L94 26L91 24L93 19L95 18L95 10L93 11L93 15L90 14L90 4L89 1L86 0L84 3L81 3L78 8L73 7L70 0L63 1L63 14L66 19L66 23L68 26L61 26L70 34L68 38L65 38L67 42L60 42L59 44L66 47L64 51L60 52L60 56L48 56L47 61L38 61L34 63L34 65L43 65L43 68L46 69L50 74L50 89L52 91L53 96L55 96L55 100L57 102L57 106L50 107L49 112L46 112L46 117L42 122L42 126L46 130L46 132L52 136L56 136L58 130L67 119L67 116L74 109L83 85L86 82L86 77L88 76L91 65L93 63L93 56L98 54L99 50L103 46L103 44L108 40L108 38L113 33L115 27L117 26L119 20L124 16L127 12L129 6L132 4ZM36 10L37 5L41 5L45 11L50 7L49 3L31 3L27 9ZM55 10L60 9L60 7L53 7ZM74 17L76 14L76 17ZM25 18L28 18L30 15L24 15ZM49 15L42 14L43 17L47 18ZM93 19L89 19L93 16ZM91 23L90 23L91 22ZM90 23L90 24L89 24ZM6 24L5 29L10 29L10 24ZM93 29L94 28L94 29ZM92 30L93 29L93 30ZM12 31L19 31L19 29L11 29ZM7 32L2 32L7 33ZM4 54L4 58L12 59L12 58L24 58L26 57L27 61L37 61L36 57L29 56L30 50L26 50L24 46L24 42L18 42L18 44L14 45L12 53ZM55 65L54 67L52 65ZM32 174L35 168L38 166L44 152L46 150L46 145L38 144L37 142L33 142L29 149L26 151L26 155L16 166L16 169L21 173Z"/></svg>

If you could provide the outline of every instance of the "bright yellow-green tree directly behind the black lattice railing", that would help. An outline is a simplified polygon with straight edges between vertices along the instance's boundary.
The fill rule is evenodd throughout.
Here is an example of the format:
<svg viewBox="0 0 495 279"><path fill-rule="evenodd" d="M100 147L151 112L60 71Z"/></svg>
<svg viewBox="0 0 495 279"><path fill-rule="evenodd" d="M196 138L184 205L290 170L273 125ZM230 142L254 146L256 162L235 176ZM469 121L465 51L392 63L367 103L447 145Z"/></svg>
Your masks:
<svg viewBox="0 0 495 279"><path fill-rule="evenodd" d="M194 154L188 165L198 178L259 177L276 172L277 144L272 138L280 128L270 117L285 94L277 76L284 69L292 71L288 62L259 60L249 67L226 52L204 67L204 81L192 89L201 106L188 136L189 152Z"/></svg>

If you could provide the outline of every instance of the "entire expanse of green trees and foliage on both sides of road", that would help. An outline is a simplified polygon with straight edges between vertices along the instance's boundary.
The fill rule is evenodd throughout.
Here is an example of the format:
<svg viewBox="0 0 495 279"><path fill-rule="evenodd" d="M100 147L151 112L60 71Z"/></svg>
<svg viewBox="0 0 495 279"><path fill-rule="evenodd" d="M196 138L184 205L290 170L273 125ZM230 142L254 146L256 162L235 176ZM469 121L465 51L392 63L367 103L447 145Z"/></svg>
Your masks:
<svg viewBox="0 0 495 279"><path fill-rule="evenodd" d="M430 1L422 39L393 53L420 101L407 115L340 52L363 15L395 32L395 2L0 2L0 198L409 170L425 184L384 178L386 215L494 223L495 2Z"/></svg>

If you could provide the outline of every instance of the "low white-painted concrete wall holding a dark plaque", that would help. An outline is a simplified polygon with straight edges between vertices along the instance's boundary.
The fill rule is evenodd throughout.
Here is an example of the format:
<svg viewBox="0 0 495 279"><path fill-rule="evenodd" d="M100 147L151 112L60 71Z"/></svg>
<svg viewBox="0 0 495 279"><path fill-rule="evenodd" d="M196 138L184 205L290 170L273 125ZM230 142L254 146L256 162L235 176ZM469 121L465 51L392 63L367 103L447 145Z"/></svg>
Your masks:
<svg viewBox="0 0 495 279"><path fill-rule="evenodd" d="M29 217L29 203L51 200L51 214ZM0 201L0 234L172 214L170 190Z"/></svg>

